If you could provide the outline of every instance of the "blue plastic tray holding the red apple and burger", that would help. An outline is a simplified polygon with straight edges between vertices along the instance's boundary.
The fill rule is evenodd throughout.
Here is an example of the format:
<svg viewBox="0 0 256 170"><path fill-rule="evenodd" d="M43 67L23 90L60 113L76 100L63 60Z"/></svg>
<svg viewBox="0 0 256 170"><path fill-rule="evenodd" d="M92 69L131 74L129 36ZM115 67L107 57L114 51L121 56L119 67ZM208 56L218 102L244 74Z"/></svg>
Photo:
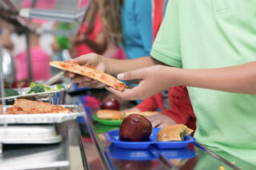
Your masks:
<svg viewBox="0 0 256 170"><path fill-rule="evenodd" d="M186 146L195 141L193 136L186 136L182 141L158 141L157 135L160 128L152 128L152 133L149 137L148 141L140 141L140 142L131 142L131 141L122 141L119 140L119 130L113 130L110 132L105 132L104 136L107 141L112 142L119 148L127 148L127 149L146 149L150 146L154 146L156 148L186 148Z"/></svg>

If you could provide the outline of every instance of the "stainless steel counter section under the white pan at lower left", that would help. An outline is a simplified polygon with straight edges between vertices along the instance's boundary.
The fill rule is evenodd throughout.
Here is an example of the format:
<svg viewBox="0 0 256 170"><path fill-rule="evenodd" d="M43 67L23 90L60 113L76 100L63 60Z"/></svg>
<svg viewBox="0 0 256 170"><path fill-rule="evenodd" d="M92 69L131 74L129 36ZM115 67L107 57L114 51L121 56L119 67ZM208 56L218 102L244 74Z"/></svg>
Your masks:
<svg viewBox="0 0 256 170"><path fill-rule="evenodd" d="M3 144L0 169L70 169L71 146L69 126L76 121L58 125L62 134L59 144Z"/></svg>

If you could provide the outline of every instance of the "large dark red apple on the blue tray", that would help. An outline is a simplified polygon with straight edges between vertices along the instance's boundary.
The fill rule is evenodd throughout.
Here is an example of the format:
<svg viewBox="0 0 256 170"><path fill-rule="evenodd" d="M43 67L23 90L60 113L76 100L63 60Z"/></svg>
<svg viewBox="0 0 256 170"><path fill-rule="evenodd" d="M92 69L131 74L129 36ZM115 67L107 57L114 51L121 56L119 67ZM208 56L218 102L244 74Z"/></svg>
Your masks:
<svg viewBox="0 0 256 170"><path fill-rule="evenodd" d="M138 114L125 117L120 125L119 139L122 141L146 141L152 132L149 120Z"/></svg>

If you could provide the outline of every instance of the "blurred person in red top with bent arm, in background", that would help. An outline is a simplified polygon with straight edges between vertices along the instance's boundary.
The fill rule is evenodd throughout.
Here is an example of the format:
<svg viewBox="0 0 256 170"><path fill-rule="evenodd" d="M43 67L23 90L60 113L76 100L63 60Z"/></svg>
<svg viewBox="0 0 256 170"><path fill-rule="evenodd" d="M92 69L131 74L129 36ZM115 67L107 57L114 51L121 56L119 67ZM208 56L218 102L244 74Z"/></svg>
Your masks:
<svg viewBox="0 0 256 170"><path fill-rule="evenodd" d="M110 41L102 25L102 12L99 4L102 1L92 0L85 18L74 38L70 38L70 55L78 57L86 53L98 53L104 57L126 58L120 45ZM108 24L107 24L108 25Z"/></svg>

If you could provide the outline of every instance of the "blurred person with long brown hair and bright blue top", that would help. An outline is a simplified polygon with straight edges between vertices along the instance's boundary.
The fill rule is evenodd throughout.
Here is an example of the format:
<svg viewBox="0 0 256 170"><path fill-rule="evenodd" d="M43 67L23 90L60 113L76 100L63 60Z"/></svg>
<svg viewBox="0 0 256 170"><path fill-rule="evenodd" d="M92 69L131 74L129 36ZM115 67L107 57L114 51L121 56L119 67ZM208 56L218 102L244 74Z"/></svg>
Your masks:
<svg viewBox="0 0 256 170"><path fill-rule="evenodd" d="M150 53L152 45L151 1L98 1L106 38L122 45L128 59ZM150 16L150 17L149 17Z"/></svg>

